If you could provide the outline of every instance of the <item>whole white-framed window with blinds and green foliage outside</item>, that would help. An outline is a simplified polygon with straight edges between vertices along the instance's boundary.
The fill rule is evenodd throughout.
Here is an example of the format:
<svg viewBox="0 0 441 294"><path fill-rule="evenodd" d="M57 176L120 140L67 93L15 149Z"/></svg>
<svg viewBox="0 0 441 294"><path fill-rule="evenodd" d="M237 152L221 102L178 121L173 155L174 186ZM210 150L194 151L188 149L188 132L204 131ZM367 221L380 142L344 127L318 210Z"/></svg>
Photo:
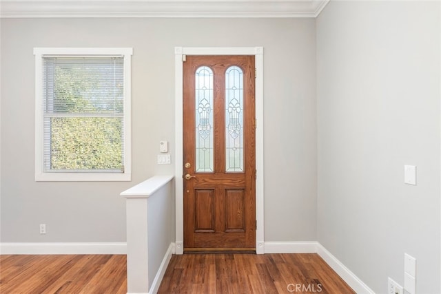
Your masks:
<svg viewBox="0 0 441 294"><path fill-rule="evenodd" d="M34 48L35 180L131 180L132 48Z"/></svg>

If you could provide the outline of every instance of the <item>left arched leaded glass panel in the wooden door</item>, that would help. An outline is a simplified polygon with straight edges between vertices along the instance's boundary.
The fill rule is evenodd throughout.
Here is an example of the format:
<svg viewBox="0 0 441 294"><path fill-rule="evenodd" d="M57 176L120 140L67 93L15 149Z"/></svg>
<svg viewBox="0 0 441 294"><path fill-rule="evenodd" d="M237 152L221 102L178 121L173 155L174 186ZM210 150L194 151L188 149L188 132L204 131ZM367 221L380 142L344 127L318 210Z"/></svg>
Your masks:
<svg viewBox="0 0 441 294"><path fill-rule="evenodd" d="M196 172L213 168L213 71L207 66L196 70Z"/></svg>

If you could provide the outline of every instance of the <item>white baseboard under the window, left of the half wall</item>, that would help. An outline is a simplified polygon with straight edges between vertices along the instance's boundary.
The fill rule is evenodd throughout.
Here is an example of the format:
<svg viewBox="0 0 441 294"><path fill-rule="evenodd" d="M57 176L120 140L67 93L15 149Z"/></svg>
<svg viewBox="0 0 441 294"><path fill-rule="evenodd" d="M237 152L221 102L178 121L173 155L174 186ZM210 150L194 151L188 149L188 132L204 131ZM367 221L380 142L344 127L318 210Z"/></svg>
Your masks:
<svg viewBox="0 0 441 294"><path fill-rule="evenodd" d="M126 254L121 243L0 243L0 255L6 254Z"/></svg>

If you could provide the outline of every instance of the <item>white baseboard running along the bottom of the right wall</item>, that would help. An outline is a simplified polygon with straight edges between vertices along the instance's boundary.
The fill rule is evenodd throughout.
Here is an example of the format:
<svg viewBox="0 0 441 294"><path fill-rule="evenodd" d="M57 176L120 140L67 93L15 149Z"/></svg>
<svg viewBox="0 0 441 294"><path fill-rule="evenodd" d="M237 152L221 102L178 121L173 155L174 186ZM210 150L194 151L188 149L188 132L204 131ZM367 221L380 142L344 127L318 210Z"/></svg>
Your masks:
<svg viewBox="0 0 441 294"><path fill-rule="evenodd" d="M375 294L375 292L373 292L371 288L367 286L367 284L362 282L362 280L360 280L354 273L349 271L349 269L334 255L327 251L325 247L323 247L320 243L317 245L318 255L320 255L320 257L323 258L323 260L325 260L329 266L331 266L331 269L334 269L334 271L336 271L336 273L338 273L338 275L340 275L340 277L347 282L353 291L356 291L358 294Z"/></svg>

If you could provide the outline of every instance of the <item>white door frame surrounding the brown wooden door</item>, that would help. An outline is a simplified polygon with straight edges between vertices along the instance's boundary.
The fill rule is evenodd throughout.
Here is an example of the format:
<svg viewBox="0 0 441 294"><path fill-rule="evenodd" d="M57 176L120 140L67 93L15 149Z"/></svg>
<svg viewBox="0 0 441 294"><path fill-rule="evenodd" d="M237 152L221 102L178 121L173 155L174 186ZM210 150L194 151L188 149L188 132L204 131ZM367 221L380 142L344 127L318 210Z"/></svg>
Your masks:
<svg viewBox="0 0 441 294"><path fill-rule="evenodd" d="M263 47L175 47L175 253L184 253L183 202L183 56L184 55L254 55L256 67L256 253L265 253L263 190Z"/></svg>

